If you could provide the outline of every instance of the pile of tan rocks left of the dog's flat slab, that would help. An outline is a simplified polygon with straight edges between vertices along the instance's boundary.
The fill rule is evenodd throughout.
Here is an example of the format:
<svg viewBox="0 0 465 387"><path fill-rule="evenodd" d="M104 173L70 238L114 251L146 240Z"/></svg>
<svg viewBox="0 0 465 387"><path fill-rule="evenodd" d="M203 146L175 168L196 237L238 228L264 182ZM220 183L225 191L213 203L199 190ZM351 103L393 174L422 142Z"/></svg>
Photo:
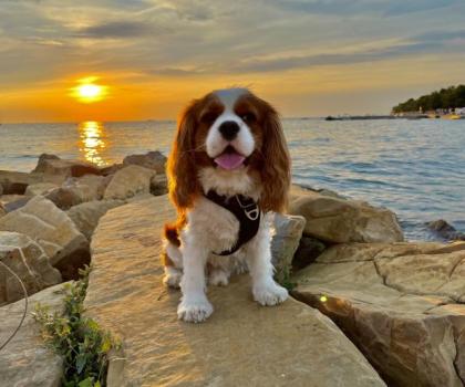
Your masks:
<svg viewBox="0 0 465 387"><path fill-rule="evenodd" d="M30 313L37 302L62 305L56 290L90 263L93 230L108 209L166 192L165 163L157 151L113 168L42 155L30 174L0 170L0 345L25 307L16 275L29 296L22 327L0 353L0 386L60 385L61 359L43 346Z"/></svg>

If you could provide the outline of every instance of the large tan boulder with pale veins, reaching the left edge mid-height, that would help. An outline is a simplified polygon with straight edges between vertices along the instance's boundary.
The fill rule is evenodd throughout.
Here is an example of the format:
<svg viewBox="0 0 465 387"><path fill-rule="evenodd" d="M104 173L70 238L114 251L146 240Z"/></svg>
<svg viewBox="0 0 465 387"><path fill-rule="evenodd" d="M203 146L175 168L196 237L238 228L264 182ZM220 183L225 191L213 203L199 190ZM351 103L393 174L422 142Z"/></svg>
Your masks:
<svg viewBox="0 0 465 387"><path fill-rule="evenodd" d="M65 281L76 278L78 268L89 263L86 238L65 212L41 196L0 218L0 230L20 232L35 240Z"/></svg>

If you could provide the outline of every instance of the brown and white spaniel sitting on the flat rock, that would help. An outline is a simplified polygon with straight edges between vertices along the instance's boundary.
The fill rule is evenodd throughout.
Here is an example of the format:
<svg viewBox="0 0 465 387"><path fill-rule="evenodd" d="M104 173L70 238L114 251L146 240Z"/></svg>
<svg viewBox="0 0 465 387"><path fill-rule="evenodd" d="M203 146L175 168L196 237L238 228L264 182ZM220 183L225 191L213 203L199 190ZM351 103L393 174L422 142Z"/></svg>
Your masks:
<svg viewBox="0 0 465 387"><path fill-rule="evenodd" d="M210 284L227 285L230 274L246 266L259 304L283 302L288 292L273 280L270 223L272 211L282 211L287 202L290 160L275 108L246 88L218 90L194 101L180 117L167 171L178 219L165 227L164 282L180 285L178 318L199 323L211 314L206 272ZM239 210L247 206L238 198L256 206L256 233L240 248L232 249L240 229L249 226L210 200L211 192L227 205L237 199ZM219 253L231 250L227 257Z"/></svg>

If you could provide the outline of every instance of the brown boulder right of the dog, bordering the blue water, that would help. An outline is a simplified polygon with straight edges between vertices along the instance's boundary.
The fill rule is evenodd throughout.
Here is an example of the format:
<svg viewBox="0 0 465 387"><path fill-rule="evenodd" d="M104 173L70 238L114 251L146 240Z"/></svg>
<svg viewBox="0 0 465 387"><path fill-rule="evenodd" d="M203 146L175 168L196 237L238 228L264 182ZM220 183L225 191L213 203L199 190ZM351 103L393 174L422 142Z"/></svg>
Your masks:
<svg viewBox="0 0 465 387"><path fill-rule="evenodd" d="M322 241L399 242L401 227L393 212L365 202L343 200L312 191L291 191L289 213L307 219L303 233Z"/></svg>

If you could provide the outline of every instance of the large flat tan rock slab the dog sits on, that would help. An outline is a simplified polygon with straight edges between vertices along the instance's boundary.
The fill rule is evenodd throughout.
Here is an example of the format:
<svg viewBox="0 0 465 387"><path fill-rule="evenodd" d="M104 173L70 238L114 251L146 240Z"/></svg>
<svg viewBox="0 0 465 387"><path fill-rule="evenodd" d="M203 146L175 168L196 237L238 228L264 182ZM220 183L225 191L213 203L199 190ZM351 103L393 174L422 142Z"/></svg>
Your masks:
<svg viewBox="0 0 465 387"><path fill-rule="evenodd" d="M384 386L337 326L289 300L261 307L247 275L209 289L213 316L179 322L179 292L162 284L166 196L110 210L92 242L87 314L122 341L108 386Z"/></svg>

